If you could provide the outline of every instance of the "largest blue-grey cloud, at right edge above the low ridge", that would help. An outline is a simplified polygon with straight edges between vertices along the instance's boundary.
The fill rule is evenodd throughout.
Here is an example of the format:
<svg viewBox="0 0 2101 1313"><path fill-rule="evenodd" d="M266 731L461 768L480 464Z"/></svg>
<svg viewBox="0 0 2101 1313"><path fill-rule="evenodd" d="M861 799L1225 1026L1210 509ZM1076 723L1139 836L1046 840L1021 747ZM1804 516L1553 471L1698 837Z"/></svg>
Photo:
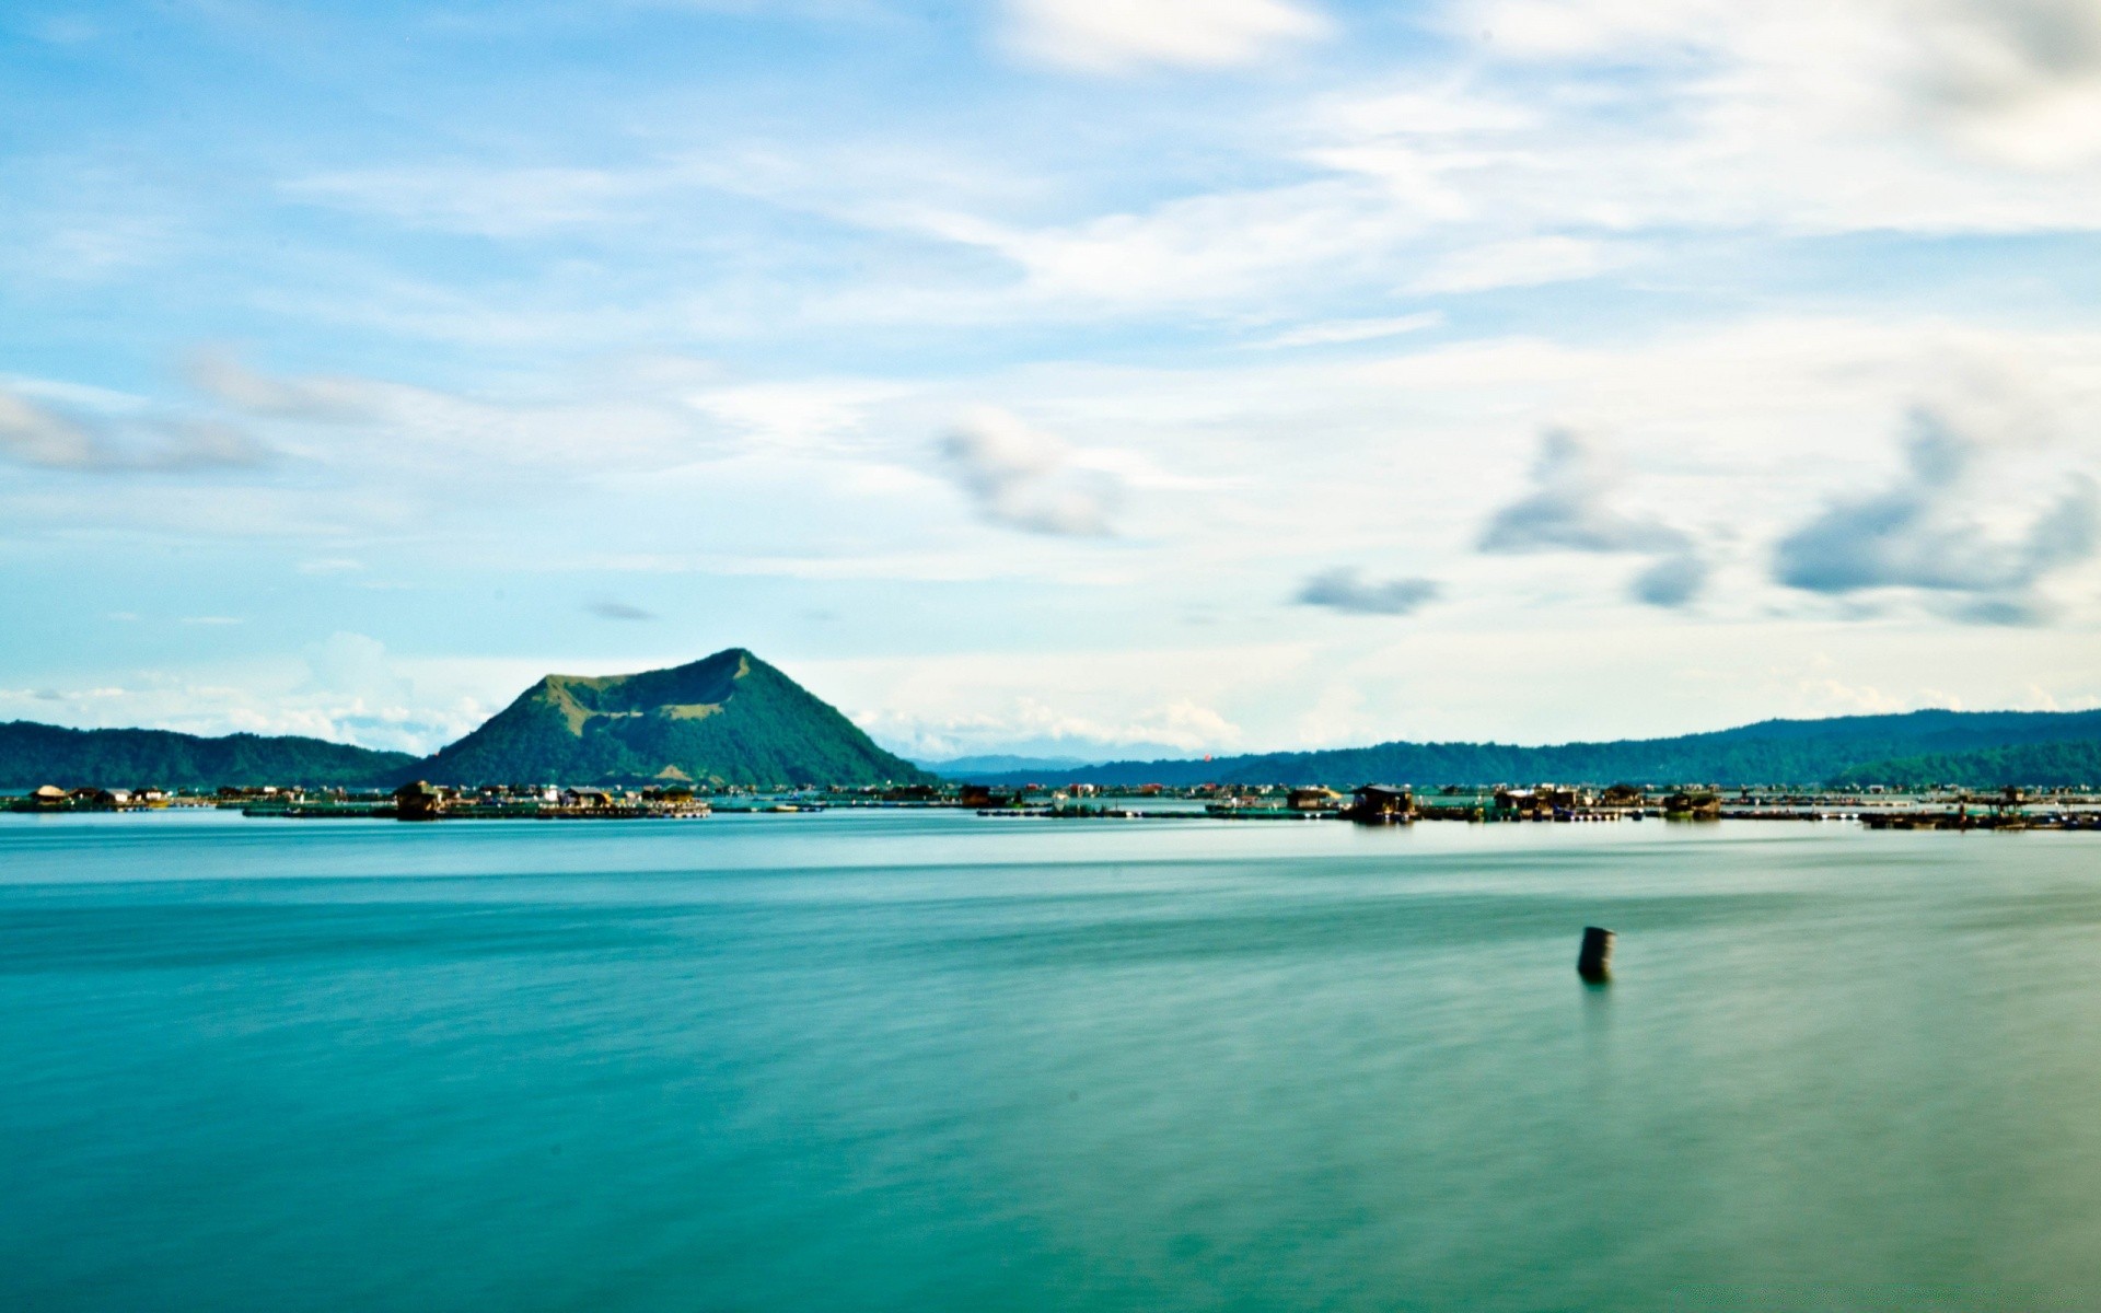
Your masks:
<svg viewBox="0 0 2101 1313"><path fill-rule="evenodd" d="M1849 597L1918 588L1954 599L1960 620L2021 624L2042 618L2032 588L2095 555L2101 504L2084 477L2015 540L1975 519L1969 479L1981 441L1933 410L1912 414L1906 471L1885 492L1828 504L1780 540L1773 578L1788 588Z"/></svg>

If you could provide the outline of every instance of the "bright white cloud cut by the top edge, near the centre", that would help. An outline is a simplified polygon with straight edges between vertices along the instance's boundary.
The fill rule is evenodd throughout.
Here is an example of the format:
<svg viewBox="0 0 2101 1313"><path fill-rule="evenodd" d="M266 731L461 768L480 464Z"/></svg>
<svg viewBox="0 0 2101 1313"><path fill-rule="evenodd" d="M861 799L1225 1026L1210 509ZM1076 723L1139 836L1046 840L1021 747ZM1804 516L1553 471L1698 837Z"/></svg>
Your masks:
<svg viewBox="0 0 2101 1313"><path fill-rule="evenodd" d="M1008 0L1008 19L1021 55L1095 74L1244 65L1330 32L1294 0Z"/></svg>

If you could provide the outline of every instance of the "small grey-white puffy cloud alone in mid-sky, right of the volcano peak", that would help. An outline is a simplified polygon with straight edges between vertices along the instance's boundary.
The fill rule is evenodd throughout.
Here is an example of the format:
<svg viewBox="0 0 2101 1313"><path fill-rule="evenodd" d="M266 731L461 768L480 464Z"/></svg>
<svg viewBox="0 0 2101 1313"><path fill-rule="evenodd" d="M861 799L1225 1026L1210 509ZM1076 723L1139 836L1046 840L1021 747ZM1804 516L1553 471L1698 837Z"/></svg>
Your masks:
<svg viewBox="0 0 2101 1313"><path fill-rule="evenodd" d="M1069 445L1004 410L964 416L941 439L941 458L990 523L1067 538L1116 532L1122 483L1082 468Z"/></svg>

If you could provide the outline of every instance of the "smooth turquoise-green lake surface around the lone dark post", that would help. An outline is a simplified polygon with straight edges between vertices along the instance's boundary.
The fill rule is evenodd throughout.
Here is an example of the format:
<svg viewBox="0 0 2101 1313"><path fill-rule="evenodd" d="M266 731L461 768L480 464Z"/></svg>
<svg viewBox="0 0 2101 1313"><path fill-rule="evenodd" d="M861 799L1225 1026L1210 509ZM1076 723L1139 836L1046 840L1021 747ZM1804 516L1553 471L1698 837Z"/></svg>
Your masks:
<svg viewBox="0 0 2101 1313"><path fill-rule="evenodd" d="M2101 1298L2090 834L0 815L0 1061L23 1311Z"/></svg>

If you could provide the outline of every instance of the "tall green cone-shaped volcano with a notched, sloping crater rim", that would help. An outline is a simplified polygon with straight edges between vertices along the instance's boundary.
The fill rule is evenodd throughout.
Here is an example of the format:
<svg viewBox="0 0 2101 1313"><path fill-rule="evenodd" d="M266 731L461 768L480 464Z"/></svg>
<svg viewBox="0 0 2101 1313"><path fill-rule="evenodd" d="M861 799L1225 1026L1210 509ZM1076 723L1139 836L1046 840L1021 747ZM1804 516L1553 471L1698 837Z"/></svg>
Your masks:
<svg viewBox="0 0 2101 1313"><path fill-rule="evenodd" d="M742 647L643 674L548 674L399 771L433 784L933 784Z"/></svg>

